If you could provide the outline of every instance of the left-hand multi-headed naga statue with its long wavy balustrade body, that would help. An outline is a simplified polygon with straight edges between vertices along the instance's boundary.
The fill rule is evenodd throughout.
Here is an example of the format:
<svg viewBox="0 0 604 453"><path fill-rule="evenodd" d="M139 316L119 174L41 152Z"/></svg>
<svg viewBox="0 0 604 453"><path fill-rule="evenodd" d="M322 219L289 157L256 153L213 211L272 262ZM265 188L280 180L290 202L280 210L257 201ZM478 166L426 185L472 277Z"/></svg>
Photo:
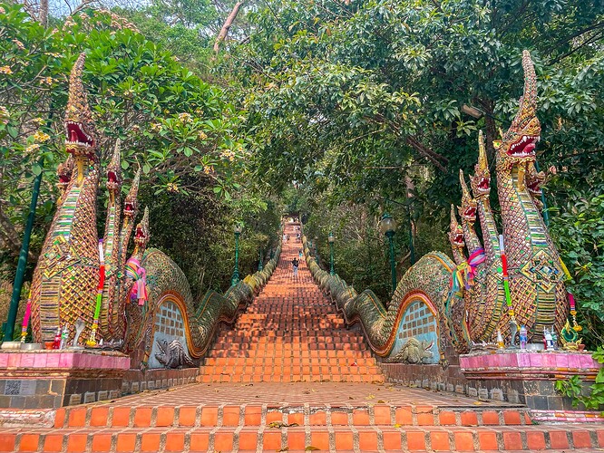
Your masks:
<svg viewBox="0 0 604 453"><path fill-rule="evenodd" d="M247 303L267 282L280 246L262 271L248 275L224 295L208 291L199 304L193 304L180 267L160 250L146 248L150 237L147 209L134 227L140 169L122 210L119 140L106 169L107 219L99 239L96 205L101 159L83 88L84 58L82 53L70 76L64 120L69 156L57 169L60 197L34 271L34 341L52 342L57 329L65 326L72 341L73 325L82 320L80 343L93 339L120 345L141 367L163 366L156 359L156 354L161 356L158 344L180 342L188 356L200 359L219 322L232 322L239 304ZM126 260L132 232L134 251Z"/></svg>

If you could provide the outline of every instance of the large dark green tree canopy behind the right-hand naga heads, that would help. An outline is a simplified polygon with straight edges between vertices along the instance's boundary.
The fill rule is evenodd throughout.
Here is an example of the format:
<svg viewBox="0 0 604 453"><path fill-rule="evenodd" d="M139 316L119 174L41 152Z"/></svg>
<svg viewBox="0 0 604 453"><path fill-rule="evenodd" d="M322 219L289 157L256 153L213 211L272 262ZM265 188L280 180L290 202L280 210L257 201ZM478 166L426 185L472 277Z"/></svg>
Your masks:
<svg viewBox="0 0 604 453"><path fill-rule="evenodd" d="M604 171L602 2L276 0L258 5L248 20L254 27L248 43L231 49L221 69L234 76L233 91L248 111L257 184L269 180L280 190L296 181L311 200L326 194L328 207L363 205L375 216L374 231L375 218L395 210L386 199L410 205L422 249L417 257L449 248L445 219L450 204L459 204L457 171L472 173L479 129L493 172L492 140L517 109L521 51L528 49L539 80L539 162L558 175L547 191L552 236L570 263L586 341L601 343L595 175ZM484 115L472 118L463 105ZM405 211L396 216L402 228ZM337 209L308 212L331 217L324 225L344 218ZM325 236L328 228L317 231ZM359 275L353 267L364 263L352 262L367 259L366 246L340 234L338 247L350 254L339 255L351 263L349 270L338 264L338 272L353 283L351 276ZM402 254L405 236L404 229L395 236ZM375 272L367 286L384 284L384 276Z"/></svg>

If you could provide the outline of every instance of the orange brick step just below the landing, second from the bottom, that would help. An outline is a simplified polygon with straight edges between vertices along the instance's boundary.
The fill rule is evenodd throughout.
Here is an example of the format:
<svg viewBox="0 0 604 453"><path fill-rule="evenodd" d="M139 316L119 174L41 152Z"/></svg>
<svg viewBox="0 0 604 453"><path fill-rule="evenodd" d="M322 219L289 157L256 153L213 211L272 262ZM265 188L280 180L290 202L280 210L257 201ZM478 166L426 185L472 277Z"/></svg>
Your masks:
<svg viewBox="0 0 604 453"><path fill-rule="evenodd" d="M54 428L195 428L395 426L476 427L532 426L524 407L443 408L433 405L325 406L268 404L77 406L56 411Z"/></svg>

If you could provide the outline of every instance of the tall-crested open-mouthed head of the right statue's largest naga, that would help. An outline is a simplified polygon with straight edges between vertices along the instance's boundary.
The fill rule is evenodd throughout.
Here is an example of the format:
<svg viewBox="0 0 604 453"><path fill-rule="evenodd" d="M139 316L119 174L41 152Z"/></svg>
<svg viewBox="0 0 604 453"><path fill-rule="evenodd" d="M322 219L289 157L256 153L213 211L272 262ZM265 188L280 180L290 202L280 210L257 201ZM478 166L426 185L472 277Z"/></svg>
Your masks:
<svg viewBox="0 0 604 453"><path fill-rule="evenodd" d="M509 170L535 160L535 145L541 139L541 123L537 118L537 76L531 62L531 53L522 52L524 91L520 108L502 137L497 149L497 169Z"/></svg>

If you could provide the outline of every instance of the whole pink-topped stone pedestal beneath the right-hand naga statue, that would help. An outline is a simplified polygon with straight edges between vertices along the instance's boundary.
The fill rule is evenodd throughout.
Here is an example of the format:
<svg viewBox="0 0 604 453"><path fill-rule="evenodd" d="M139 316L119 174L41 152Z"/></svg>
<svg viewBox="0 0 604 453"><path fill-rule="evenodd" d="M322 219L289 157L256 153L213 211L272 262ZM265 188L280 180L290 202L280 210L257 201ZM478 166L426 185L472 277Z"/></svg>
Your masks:
<svg viewBox="0 0 604 453"><path fill-rule="evenodd" d="M380 363L388 381L431 390L456 392L478 400L523 404L537 421L596 421L599 411L573 407L555 389L556 381L580 376L585 387L600 364L589 352L479 352L463 354L448 368L440 365Z"/></svg>

